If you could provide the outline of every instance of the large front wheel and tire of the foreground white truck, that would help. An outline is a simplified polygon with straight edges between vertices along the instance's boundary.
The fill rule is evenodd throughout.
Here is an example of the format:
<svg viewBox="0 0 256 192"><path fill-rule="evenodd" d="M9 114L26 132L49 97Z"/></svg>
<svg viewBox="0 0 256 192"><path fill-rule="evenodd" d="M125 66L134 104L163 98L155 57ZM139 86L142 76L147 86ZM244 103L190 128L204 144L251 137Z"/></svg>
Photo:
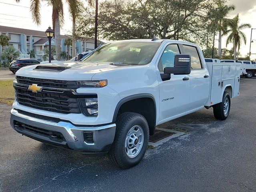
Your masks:
<svg viewBox="0 0 256 192"><path fill-rule="evenodd" d="M144 116L125 112L116 121L116 135L108 157L122 169L137 165L148 147L149 128Z"/></svg>

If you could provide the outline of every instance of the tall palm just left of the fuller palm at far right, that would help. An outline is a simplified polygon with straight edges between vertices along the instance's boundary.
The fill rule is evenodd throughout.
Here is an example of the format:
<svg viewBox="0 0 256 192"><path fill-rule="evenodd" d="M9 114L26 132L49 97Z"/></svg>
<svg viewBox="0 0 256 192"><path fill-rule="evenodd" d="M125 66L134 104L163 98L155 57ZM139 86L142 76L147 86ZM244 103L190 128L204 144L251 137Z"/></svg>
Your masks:
<svg viewBox="0 0 256 192"><path fill-rule="evenodd" d="M218 44L218 56L221 57L221 37L222 37L222 32L225 31L225 24L223 25L223 23L227 23L228 22L228 18L226 18L226 16L228 15L228 13L232 10L235 10L236 6L234 4L232 5L224 5L221 1L217 2L217 20L218 20L218 24L217 24L217 28L219 31L219 44Z"/></svg>

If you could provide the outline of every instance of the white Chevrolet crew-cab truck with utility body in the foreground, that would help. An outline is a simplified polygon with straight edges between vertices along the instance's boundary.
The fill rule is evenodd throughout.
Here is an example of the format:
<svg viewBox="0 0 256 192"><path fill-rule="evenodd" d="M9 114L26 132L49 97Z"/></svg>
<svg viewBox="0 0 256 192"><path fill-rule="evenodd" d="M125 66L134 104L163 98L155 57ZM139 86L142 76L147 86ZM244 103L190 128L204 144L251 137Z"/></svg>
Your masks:
<svg viewBox="0 0 256 192"><path fill-rule="evenodd" d="M21 68L10 124L20 134L138 164L155 127L213 107L225 120L239 95L240 64L207 63L200 47L176 40L106 43L83 62Z"/></svg>

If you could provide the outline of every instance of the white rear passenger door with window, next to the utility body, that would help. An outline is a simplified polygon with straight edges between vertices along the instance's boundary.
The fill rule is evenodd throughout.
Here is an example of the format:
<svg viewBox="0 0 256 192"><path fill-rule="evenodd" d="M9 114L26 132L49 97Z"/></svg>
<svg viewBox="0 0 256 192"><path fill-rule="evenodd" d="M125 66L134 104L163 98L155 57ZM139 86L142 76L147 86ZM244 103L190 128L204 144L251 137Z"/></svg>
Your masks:
<svg viewBox="0 0 256 192"><path fill-rule="evenodd" d="M209 97L210 77L204 68L196 46L183 45L184 54L191 56L190 98L188 110L194 110L205 105Z"/></svg>

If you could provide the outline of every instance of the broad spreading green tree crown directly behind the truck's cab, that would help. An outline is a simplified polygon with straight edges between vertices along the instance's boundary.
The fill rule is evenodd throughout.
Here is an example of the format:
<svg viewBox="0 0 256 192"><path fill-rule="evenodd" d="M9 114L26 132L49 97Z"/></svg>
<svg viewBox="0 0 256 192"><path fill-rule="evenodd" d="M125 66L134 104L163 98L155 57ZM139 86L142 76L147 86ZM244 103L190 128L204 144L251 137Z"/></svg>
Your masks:
<svg viewBox="0 0 256 192"><path fill-rule="evenodd" d="M98 33L104 39L179 39L204 45L212 34L208 12L214 0L130 0L99 5ZM77 36L94 36L94 10L86 8L77 19ZM209 38L211 40L211 38Z"/></svg>

